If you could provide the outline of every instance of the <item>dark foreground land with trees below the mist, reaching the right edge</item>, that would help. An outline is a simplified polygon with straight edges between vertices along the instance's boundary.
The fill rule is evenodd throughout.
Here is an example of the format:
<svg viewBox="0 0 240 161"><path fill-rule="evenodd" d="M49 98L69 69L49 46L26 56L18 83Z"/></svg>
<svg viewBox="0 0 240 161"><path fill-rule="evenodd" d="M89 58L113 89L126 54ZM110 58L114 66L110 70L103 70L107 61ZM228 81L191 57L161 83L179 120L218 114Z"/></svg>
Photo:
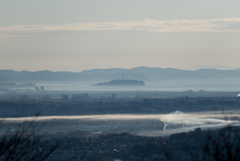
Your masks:
<svg viewBox="0 0 240 161"><path fill-rule="evenodd" d="M123 161L231 161L239 160L239 127L172 134L169 137L145 137L129 133L95 137L62 137L51 142L60 146L49 160L102 161L119 158ZM60 159L61 160L61 159Z"/></svg>

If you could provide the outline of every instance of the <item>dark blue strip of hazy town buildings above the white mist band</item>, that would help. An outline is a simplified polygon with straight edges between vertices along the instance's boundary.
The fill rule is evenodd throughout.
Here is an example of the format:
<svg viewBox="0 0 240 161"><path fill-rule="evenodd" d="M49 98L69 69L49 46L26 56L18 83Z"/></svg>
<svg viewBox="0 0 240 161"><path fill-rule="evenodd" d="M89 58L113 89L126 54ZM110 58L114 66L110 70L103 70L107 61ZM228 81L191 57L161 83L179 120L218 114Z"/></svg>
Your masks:
<svg viewBox="0 0 240 161"><path fill-rule="evenodd" d="M116 94L77 93L60 97L43 93L39 97L23 94L0 99L0 117L41 115L89 115L124 113L168 113L216 109L239 109L240 97L116 97ZM9 112L11 111L11 112Z"/></svg>

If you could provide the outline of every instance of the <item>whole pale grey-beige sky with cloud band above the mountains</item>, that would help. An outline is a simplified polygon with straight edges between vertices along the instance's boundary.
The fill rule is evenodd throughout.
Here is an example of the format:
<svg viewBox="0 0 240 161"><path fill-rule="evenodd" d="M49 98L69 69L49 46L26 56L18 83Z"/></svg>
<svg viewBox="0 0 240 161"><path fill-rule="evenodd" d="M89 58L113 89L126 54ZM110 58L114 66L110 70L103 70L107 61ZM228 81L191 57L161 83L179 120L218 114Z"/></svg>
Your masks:
<svg viewBox="0 0 240 161"><path fill-rule="evenodd" d="M239 0L0 0L0 69L234 69Z"/></svg>

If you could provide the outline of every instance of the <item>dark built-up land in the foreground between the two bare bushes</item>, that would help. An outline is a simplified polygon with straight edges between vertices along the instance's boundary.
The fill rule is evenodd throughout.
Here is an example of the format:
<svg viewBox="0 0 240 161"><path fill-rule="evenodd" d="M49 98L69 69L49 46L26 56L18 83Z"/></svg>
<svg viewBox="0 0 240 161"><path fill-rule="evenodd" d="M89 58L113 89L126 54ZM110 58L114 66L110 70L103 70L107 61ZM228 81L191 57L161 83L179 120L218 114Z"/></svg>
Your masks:
<svg viewBox="0 0 240 161"><path fill-rule="evenodd" d="M200 128L169 137L146 137L129 133L101 134L98 136L57 138L52 135L49 144L59 147L49 161L191 161L204 154L208 136L217 138L218 130ZM192 155L194 154L194 155ZM199 155L201 154L201 155Z"/></svg>

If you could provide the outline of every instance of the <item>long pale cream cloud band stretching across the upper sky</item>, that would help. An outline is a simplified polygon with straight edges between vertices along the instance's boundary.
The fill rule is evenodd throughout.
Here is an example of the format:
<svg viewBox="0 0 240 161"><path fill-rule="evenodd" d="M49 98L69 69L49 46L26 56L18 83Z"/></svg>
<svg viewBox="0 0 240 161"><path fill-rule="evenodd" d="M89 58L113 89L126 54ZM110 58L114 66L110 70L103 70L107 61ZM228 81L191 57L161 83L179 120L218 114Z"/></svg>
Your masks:
<svg viewBox="0 0 240 161"><path fill-rule="evenodd" d="M138 30L150 32L239 32L240 17L209 20L168 20L144 19L136 22L74 23L58 26L21 25L0 28L0 31L106 31Z"/></svg>

